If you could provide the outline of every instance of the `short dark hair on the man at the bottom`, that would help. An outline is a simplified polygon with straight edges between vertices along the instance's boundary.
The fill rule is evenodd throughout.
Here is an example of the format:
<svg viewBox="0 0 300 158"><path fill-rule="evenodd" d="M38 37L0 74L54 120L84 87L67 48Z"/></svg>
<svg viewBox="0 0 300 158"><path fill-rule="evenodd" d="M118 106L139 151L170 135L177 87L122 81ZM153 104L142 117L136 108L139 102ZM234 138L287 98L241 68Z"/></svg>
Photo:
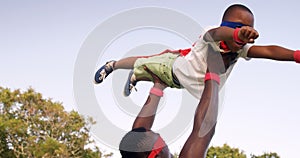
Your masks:
<svg viewBox="0 0 300 158"><path fill-rule="evenodd" d="M159 134L137 128L128 132L121 140L119 150L122 158L147 158L151 153Z"/></svg>

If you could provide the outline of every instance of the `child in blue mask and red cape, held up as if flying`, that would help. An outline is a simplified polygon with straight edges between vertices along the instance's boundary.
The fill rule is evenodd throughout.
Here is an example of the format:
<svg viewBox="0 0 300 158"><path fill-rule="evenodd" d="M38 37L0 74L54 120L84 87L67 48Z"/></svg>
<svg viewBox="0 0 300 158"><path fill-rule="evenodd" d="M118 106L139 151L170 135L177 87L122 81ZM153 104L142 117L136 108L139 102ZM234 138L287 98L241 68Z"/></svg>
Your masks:
<svg viewBox="0 0 300 158"><path fill-rule="evenodd" d="M230 64L224 65L221 73L221 87L239 57L300 62L300 51L275 45L249 45L259 36L253 26L254 16L250 9L240 4L231 5L223 14L221 26L205 32L191 49L166 50L154 56L129 57L107 62L96 72L95 83L101 83L113 70L133 69L124 89L125 96L128 96L137 81L153 81L151 75L144 70L146 66L169 87L185 88L200 99L204 89L208 54L221 53L225 56L224 60L230 61Z"/></svg>

